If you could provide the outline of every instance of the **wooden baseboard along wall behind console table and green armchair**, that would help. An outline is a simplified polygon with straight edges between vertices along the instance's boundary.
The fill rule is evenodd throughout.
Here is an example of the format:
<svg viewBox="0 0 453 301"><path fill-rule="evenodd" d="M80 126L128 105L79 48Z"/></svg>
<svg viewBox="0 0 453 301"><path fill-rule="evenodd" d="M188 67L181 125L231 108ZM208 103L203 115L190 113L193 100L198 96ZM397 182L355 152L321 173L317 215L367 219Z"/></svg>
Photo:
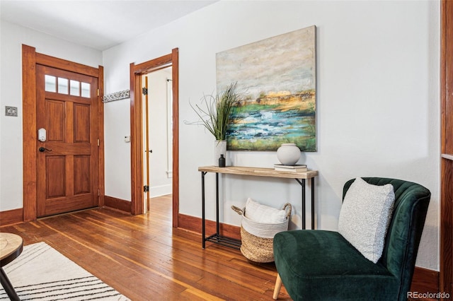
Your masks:
<svg viewBox="0 0 453 301"><path fill-rule="evenodd" d="M201 218L186 216L178 213L178 228L190 232L202 232ZM213 220L206 220L206 235L216 232L216 223ZM239 226L220 223L219 234L228 237L241 239L241 228ZM209 242L208 242L209 243ZM200 243L201 244L201 243ZM439 292L439 272L428 268L415 266L412 278L411 291L418 293L438 293Z"/></svg>

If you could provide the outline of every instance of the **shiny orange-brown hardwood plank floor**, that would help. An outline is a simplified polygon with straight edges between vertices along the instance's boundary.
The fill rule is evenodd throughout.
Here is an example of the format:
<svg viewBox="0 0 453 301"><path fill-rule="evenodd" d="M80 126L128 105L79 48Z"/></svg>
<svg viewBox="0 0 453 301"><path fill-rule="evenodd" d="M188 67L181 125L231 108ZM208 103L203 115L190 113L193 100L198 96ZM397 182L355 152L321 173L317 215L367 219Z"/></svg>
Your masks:
<svg viewBox="0 0 453 301"><path fill-rule="evenodd" d="M46 242L131 300L273 300L274 264L171 228L171 196L131 216L97 208L4 226L24 244ZM279 300L291 300L282 287Z"/></svg>

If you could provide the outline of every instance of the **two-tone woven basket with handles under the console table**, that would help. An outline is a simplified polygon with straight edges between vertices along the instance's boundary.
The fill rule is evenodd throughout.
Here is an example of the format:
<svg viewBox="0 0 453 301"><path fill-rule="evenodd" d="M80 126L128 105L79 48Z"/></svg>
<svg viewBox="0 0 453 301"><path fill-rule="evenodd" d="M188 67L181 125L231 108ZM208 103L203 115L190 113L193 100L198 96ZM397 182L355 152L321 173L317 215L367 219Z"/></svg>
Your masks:
<svg viewBox="0 0 453 301"><path fill-rule="evenodd" d="M231 206L231 209L242 216L241 222L241 253L246 259L254 262L273 262L274 236L278 232L288 230L291 204L285 203L282 210L287 211L286 219L282 223L258 223L246 218L245 209Z"/></svg>

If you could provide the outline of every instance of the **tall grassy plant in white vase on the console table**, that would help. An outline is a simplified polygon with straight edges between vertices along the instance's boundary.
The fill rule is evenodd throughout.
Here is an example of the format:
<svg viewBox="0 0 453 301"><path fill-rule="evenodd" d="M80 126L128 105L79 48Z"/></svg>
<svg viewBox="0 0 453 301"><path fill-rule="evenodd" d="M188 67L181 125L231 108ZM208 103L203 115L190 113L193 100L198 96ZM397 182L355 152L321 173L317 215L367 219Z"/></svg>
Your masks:
<svg viewBox="0 0 453 301"><path fill-rule="evenodd" d="M241 96L236 93L236 83L231 83L226 90L216 95L204 95L200 105L190 104L202 124L215 138L214 162L217 165L220 155L226 158L226 131L231 122L231 112Z"/></svg>

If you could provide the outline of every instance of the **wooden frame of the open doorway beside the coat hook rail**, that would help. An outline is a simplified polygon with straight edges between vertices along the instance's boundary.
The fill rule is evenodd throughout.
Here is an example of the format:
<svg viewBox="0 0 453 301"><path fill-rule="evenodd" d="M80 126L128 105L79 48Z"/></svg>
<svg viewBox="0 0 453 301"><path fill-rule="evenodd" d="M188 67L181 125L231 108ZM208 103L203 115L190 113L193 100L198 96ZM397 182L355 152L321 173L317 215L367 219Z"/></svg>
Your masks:
<svg viewBox="0 0 453 301"><path fill-rule="evenodd" d="M173 228L179 211L178 48L141 64L130 64L131 213L144 213L142 76L172 67L173 90Z"/></svg>

